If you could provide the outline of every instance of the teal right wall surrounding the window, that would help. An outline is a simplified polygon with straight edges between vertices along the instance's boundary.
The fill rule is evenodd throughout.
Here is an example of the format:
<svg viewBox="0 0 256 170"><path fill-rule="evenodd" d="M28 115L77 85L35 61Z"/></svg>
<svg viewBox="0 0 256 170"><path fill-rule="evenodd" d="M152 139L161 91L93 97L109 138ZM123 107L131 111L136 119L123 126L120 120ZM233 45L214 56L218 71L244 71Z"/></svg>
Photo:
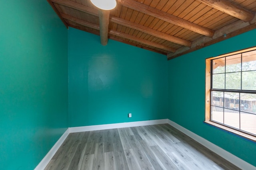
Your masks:
<svg viewBox="0 0 256 170"><path fill-rule="evenodd" d="M256 143L204 121L205 59L256 46L256 29L168 61L168 118L256 166Z"/></svg>

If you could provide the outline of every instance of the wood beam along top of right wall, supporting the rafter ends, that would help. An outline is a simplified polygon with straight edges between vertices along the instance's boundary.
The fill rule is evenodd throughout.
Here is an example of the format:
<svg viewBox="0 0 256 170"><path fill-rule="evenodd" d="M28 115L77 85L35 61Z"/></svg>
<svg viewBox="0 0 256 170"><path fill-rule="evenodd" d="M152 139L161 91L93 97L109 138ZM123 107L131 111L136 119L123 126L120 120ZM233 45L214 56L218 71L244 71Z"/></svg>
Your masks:
<svg viewBox="0 0 256 170"><path fill-rule="evenodd" d="M205 37L205 36L201 37L201 38L193 41L191 48L181 47L181 48L177 49L177 51L175 53L168 54L167 59L168 60L174 59L181 55L190 53L192 51L196 51L203 47L212 45L214 43L218 43L220 41L234 37L241 33L245 33L252 29L256 29L256 23L250 24L249 22L244 22L242 20L235 21L235 22L230 23L229 25L226 25L226 26L218 29L217 31L215 31L215 34L212 38Z"/></svg>

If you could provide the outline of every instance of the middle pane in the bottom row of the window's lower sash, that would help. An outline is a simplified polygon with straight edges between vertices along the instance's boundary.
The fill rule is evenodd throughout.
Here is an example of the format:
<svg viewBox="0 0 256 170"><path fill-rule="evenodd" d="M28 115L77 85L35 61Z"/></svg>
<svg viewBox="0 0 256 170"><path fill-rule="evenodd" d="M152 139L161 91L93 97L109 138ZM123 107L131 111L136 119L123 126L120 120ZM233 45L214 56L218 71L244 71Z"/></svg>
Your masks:
<svg viewBox="0 0 256 170"><path fill-rule="evenodd" d="M239 129L239 111L224 109L224 124Z"/></svg>

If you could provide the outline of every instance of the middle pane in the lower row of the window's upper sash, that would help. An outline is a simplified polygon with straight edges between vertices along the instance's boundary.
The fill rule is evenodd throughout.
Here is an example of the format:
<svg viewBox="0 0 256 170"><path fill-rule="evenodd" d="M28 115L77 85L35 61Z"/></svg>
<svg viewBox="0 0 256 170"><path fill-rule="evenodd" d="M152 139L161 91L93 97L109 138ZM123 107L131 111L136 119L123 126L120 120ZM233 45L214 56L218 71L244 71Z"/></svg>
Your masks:
<svg viewBox="0 0 256 170"><path fill-rule="evenodd" d="M241 90L241 72L226 73L226 89Z"/></svg>

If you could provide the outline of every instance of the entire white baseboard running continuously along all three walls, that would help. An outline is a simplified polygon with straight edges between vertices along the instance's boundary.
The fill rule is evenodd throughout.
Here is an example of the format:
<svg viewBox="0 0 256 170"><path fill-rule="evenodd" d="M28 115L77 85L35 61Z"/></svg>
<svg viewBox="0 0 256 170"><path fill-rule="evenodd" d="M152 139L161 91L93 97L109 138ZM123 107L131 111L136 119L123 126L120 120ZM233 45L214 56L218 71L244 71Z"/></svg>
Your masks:
<svg viewBox="0 0 256 170"><path fill-rule="evenodd" d="M136 126L146 126L146 125L158 125L168 123L169 125L175 127L182 133L188 135L198 143L204 145L208 149L212 150L216 154L220 155L224 159L228 160L232 164L236 165L241 169L250 169L256 170L256 167L248 162L238 158L237 156L231 154L230 152L214 145L213 143L207 141L206 139L196 135L195 133L189 131L188 129L178 125L177 123L169 120L169 119L159 119L159 120L149 120L149 121L135 121L135 122L125 122L125 123L113 123L113 124L106 124L106 125L92 125L92 126L82 126L82 127L69 127L64 134L60 137L60 139L55 143L55 145L50 149L50 151L44 156L42 161L36 166L35 170L43 170L47 164L50 162L54 154L60 148L62 143L65 141L66 137L68 137L69 133L75 132L85 132L85 131L97 131L97 130L104 130L104 129L116 129L116 128L123 128L123 127L136 127Z"/></svg>

